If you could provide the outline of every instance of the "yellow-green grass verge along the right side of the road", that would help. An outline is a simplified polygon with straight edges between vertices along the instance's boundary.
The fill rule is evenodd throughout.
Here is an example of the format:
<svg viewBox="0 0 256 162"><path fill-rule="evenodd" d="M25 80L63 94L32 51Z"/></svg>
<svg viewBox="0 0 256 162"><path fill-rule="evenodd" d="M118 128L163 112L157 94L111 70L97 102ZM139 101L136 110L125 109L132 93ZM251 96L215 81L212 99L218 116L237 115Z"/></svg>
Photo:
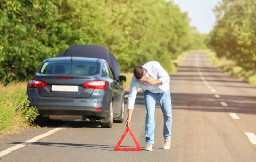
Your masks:
<svg viewBox="0 0 256 162"><path fill-rule="evenodd" d="M237 77L241 81L248 82L251 85L256 86L256 70L244 70L242 67L237 66L232 60L228 60L224 57L218 58L215 52L210 50L205 52L209 60L217 69L227 73L230 76Z"/></svg>

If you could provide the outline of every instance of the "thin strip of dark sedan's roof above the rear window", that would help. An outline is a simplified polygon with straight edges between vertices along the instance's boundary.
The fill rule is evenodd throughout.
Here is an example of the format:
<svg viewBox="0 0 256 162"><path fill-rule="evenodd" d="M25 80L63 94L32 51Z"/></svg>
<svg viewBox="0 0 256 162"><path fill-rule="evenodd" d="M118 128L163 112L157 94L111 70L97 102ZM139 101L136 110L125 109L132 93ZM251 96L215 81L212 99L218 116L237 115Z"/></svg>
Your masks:
<svg viewBox="0 0 256 162"><path fill-rule="evenodd" d="M73 61L90 61L90 62L104 62L104 59L99 58L87 58L87 57L72 57ZM69 61L71 57L55 57L49 58L46 61Z"/></svg>

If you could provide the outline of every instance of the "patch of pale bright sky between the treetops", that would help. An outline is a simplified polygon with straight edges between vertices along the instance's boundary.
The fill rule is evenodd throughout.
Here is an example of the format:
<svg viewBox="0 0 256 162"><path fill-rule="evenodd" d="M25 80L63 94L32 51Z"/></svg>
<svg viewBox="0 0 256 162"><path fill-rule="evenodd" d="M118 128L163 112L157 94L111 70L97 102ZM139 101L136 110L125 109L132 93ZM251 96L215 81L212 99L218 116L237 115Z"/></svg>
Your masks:
<svg viewBox="0 0 256 162"><path fill-rule="evenodd" d="M220 0L173 0L182 12L187 12L191 26L196 26L200 33L207 34L215 23L214 7Z"/></svg>

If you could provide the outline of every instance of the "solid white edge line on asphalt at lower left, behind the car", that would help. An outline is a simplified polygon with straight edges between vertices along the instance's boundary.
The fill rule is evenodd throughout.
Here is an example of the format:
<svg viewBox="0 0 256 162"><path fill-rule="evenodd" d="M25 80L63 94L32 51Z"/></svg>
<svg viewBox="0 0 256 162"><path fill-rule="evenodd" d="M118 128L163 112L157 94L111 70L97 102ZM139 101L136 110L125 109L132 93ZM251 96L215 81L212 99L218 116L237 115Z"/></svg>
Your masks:
<svg viewBox="0 0 256 162"><path fill-rule="evenodd" d="M68 123L68 124L69 124L69 123ZM57 132L57 131L59 131L59 130L61 130L61 129L64 129L66 125L67 125L67 124L65 124L65 125L63 125L63 126L60 126L60 127L57 127L57 128L54 128L54 129L52 129L52 130L50 130L50 131L47 131L47 132L44 133L44 134L38 135L38 136L36 136L36 137L33 137L32 139L29 139L29 140L27 140L27 141L25 141L25 142L22 142L22 143L20 143L20 144L16 144L15 146L12 146L12 147L10 147L10 148L8 148L8 149L6 149L6 150L3 150L3 151L0 152L0 157L5 156L5 155L11 153L12 151L17 150L17 149L19 149L19 148L21 148L21 147L24 147L24 146L26 146L27 144L36 142L36 141L38 141L38 140L40 140L40 139L42 139L42 138L44 138L44 137L47 137L47 136L49 136L49 135L51 135L51 134L53 134L53 133L55 133L55 132Z"/></svg>

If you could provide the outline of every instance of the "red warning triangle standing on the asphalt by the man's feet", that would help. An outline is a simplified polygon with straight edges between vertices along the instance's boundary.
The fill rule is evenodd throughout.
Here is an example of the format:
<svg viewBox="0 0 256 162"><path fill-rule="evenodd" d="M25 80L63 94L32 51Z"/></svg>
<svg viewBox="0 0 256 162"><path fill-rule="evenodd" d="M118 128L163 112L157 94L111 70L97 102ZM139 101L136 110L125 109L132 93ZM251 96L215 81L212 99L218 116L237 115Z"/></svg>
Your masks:
<svg viewBox="0 0 256 162"><path fill-rule="evenodd" d="M130 135L133 138L134 143L136 144L137 148L119 148L120 144L122 143L124 137L126 136L127 132L129 131ZM132 130L130 127L127 127L124 131L123 135L121 136L120 140L117 142L116 147L114 148L115 151L141 151L140 145L136 140L135 136L133 135Z"/></svg>

